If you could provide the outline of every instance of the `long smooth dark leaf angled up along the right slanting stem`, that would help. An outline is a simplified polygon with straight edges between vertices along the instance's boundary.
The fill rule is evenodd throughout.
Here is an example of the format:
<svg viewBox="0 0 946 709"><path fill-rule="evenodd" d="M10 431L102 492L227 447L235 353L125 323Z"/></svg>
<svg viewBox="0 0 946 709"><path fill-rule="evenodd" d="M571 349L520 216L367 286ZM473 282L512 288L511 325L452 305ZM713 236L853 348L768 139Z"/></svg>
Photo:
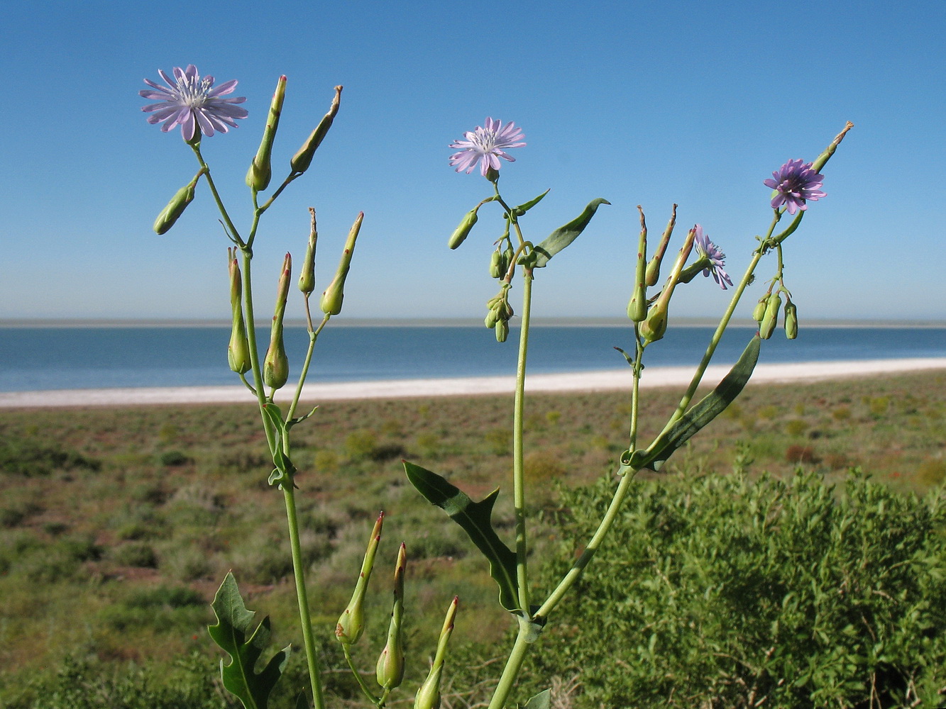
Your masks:
<svg viewBox="0 0 946 709"><path fill-rule="evenodd" d="M631 457L631 465L639 470L650 468L658 471L673 455L674 451L689 441L693 434L715 419L723 409L729 406L749 381L752 371L759 361L759 350L762 340L758 335L753 337L739 357L739 361L723 378L716 389L704 397L699 404L693 406L670 428L657 437L657 440L643 451L637 451Z"/></svg>

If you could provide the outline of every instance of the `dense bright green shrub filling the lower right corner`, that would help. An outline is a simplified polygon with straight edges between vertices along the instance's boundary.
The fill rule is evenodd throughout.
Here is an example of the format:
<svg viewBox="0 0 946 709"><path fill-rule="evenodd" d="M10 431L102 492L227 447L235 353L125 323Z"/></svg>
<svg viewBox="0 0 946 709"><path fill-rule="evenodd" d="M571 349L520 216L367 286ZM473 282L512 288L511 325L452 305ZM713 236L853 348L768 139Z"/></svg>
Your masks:
<svg viewBox="0 0 946 709"><path fill-rule="evenodd" d="M588 538L612 488L563 493L566 538ZM840 495L800 473L639 483L535 674L580 672L589 707L938 706L944 529L942 490L920 499L856 473ZM573 558L569 545L541 584Z"/></svg>

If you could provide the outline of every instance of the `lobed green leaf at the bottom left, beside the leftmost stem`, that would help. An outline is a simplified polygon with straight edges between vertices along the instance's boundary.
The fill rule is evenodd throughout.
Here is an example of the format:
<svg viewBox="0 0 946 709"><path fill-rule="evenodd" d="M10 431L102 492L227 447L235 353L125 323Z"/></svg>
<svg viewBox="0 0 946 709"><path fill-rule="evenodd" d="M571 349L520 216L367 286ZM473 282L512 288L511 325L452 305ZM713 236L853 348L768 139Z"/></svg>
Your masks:
<svg viewBox="0 0 946 709"><path fill-rule="evenodd" d="M289 659L289 647L273 655L262 672L255 672L259 656L270 644L270 618L263 618L253 628L256 614L246 609L233 573L227 573L223 579L211 607L217 614L217 625L209 626L207 631L230 655L229 663L220 660L223 686L235 694L246 709L266 709L272 687Z"/></svg>

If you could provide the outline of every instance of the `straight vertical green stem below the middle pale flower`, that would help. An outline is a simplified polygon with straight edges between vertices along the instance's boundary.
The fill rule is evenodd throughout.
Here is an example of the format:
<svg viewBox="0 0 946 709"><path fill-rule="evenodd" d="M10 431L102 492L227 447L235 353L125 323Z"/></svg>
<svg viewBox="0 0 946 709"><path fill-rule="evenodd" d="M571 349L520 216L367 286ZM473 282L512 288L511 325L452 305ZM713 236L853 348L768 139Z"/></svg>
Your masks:
<svg viewBox="0 0 946 709"><path fill-rule="evenodd" d="M526 536L525 475L523 470L523 431L526 387L526 355L529 351L529 320L532 309L532 269L522 273L522 321L519 326L519 355L516 366L516 402L513 408L513 506L516 509L516 579L519 588L519 608L529 616L529 575L526 556L529 553Z"/></svg>

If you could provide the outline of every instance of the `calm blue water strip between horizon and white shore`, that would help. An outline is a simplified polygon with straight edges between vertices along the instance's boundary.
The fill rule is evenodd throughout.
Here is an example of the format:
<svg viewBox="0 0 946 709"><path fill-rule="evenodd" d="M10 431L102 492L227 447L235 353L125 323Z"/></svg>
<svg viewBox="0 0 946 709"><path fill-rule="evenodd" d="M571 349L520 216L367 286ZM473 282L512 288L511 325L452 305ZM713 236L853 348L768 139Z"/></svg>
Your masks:
<svg viewBox="0 0 946 709"><path fill-rule="evenodd" d="M753 332L730 328L714 363L734 362ZM648 349L647 364L694 365L711 333L710 327L672 328ZM319 337L310 376L365 381L511 374L516 335L514 329L500 345L482 327L332 326ZM224 327L0 328L0 391L233 385L238 381L227 368L229 337ZM287 329L290 362L301 361L307 342L304 329ZM633 348L626 328L537 326L529 370L626 366L615 346ZM779 331L763 343L760 361L907 357L946 357L946 328L809 327L794 341Z"/></svg>

